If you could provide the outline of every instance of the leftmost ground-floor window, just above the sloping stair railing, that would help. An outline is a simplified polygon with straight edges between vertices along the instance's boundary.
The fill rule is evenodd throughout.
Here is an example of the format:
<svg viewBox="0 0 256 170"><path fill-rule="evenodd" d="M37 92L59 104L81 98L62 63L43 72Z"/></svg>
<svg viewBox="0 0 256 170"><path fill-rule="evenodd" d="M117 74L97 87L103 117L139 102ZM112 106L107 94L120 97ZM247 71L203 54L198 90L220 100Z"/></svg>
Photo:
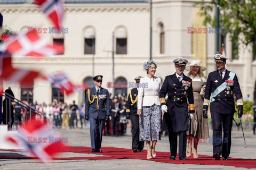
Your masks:
<svg viewBox="0 0 256 170"><path fill-rule="evenodd" d="M27 84L26 86L21 84L21 89L20 89L20 91L21 91L20 100L21 101L27 101L28 104L33 103L33 96L34 96L33 87L34 87L34 83Z"/></svg>

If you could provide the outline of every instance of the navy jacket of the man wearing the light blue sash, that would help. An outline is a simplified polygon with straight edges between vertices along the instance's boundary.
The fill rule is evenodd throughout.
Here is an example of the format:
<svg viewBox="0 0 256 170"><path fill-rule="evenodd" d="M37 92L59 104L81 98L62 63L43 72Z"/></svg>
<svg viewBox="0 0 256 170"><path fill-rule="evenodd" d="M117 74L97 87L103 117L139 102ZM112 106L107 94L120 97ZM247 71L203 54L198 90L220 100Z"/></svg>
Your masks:
<svg viewBox="0 0 256 170"><path fill-rule="evenodd" d="M229 75L230 71L226 70L222 80L218 70L209 73L204 95L204 109L208 109L212 92L221 86L222 83L225 83L226 80L230 78ZM226 84L225 89L221 90L217 96L214 97L214 101L211 100L211 112L218 112L221 114L234 114L236 111L233 94L236 96L238 109L243 109L243 96L236 74L234 76L233 82Z"/></svg>

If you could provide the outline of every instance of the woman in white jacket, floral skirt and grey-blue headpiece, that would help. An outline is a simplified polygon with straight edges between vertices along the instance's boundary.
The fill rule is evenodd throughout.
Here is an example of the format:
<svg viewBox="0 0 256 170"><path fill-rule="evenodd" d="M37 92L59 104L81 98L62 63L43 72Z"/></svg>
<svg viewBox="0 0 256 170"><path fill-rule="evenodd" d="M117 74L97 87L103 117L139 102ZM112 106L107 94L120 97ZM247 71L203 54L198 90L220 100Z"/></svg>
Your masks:
<svg viewBox="0 0 256 170"><path fill-rule="evenodd" d="M161 140L161 107L159 101L159 91L162 83L161 79L155 77L156 64L148 61L143 65L147 71L147 76L140 79L138 90L138 112L140 115L140 141L146 141L147 159L156 157L156 142ZM150 147L150 141L152 145Z"/></svg>

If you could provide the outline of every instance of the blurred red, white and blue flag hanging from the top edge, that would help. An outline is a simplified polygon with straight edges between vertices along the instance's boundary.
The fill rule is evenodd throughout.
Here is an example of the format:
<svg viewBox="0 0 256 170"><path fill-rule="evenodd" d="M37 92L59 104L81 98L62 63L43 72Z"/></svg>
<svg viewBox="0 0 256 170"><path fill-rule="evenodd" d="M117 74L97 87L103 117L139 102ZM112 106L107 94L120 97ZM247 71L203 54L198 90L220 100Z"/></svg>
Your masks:
<svg viewBox="0 0 256 170"><path fill-rule="evenodd" d="M61 28L64 16L64 0L35 0L35 4L50 18L56 28Z"/></svg>

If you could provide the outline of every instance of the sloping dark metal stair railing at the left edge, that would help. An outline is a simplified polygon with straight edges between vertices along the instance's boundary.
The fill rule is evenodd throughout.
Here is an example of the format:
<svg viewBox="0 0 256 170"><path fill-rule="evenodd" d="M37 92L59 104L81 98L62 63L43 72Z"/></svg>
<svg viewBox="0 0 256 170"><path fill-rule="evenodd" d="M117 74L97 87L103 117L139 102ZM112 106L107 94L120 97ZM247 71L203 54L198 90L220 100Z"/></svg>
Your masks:
<svg viewBox="0 0 256 170"><path fill-rule="evenodd" d="M35 113L35 114L38 114L38 115L43 115L43 116L44 116L44 121L46 121L46 120L45 120L45 118L46 118L46 117L45 117L45 113L40 112L40 111L37 111L35 108L33 108L33 107L31 107L31 106L29 106L29 105L23 103L21 100L15 98L15 97L13 97L13 96L11 96L11 95L9 95L9 94L6 94L5 92L3 92L3 95L2 95L2 96L4 96L5 99L9 99L9 100L15 102L16 104L20 105L21 107L28 109L28 110L29 110L29 122L31 122L31 112L33 112L33 113ZM15 100L16 100L16 101L15 101ZM8 102L8 104L9 104L9 122L10 122L10 126L11 126L11 121L12 121L12 120L11 120L11 102ZM7 101L6 101L6 103L5 103L5 108L6 108L6 109L5 109L5 117L6 117L6 119L5 119L5 124L8 124L8 122L7 122L7 115L8 115L8 112L7 112ZM3 113L3 114L4 114L4 113Z"/></svg>

